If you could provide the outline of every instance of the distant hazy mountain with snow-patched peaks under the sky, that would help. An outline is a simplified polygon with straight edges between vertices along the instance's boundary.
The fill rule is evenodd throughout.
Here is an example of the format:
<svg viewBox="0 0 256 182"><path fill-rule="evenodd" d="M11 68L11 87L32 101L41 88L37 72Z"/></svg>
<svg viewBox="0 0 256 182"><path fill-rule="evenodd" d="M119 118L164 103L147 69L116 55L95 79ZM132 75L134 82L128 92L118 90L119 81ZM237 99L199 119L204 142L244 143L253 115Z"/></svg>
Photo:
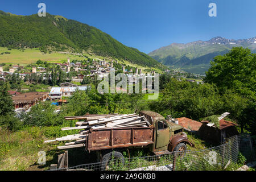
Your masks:
<svg viewBox="0 0 256 182"><path fill-rule="evenodd" d="M212 38L208 41L196 41L187 44L173 43L150 52L148 55L171 68L183 68L187 72L203 74L209 68L210 60L224 55L232 47L247 47L256 52L256 37L250 39Z"/></svg>

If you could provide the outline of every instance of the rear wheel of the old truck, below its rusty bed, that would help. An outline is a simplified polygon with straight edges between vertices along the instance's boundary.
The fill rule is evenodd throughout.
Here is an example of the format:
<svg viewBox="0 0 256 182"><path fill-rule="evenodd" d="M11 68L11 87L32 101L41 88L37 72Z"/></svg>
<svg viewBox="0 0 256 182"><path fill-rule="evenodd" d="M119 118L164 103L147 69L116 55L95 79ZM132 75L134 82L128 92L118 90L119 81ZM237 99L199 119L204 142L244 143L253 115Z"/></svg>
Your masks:
<svg viewBox="0 0 256 182"><path fill-rule="evenodd" d="M101 170L105 171L110 168L110 166L113 167L119 167L123 166L125 164L125 159L123 158L123 155L121 152L112 151L108 154L105 154L102 157L102 164L101 164Z"/></svg>

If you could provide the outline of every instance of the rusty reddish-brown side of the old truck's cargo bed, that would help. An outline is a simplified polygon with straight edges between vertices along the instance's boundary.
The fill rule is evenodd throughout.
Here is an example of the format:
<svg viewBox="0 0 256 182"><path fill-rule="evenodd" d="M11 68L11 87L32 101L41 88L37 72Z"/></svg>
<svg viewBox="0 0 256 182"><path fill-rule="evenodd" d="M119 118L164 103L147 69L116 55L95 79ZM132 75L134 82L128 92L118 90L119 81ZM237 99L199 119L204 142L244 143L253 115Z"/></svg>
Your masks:
<svg viewBox="0 0 256 182"><path fill-rule="evenodd" d="M89 130L86 150L147 146L154 143L154 126Z"/></svg>

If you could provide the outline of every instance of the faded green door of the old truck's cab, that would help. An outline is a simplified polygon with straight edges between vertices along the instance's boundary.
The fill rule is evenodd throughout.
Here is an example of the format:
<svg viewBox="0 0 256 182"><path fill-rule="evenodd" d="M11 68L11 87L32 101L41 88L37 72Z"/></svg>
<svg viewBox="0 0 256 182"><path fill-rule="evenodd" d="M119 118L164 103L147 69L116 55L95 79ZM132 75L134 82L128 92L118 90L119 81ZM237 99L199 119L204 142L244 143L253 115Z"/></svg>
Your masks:
<svg viewBox="0 0 256 182"><path fill-rule="evenodd" d="M167 146L170 139L170 129L166 121L156 123L156 145L155 148Z"/></svg>

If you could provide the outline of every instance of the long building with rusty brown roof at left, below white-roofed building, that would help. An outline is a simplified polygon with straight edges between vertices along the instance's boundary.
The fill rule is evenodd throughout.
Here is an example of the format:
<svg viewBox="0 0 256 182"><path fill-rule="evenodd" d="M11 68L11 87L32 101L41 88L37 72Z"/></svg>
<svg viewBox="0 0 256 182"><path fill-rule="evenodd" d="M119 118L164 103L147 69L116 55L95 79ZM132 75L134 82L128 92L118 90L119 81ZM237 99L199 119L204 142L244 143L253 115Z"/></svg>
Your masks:
<svg viewBox="0 0 256 182"><path fill-rule="evenodd" d="M27 110L40 101L46 101L48 97L49 92L28 92L20 93L12 98L15 105L15 111L18 111Z"/></svg>

